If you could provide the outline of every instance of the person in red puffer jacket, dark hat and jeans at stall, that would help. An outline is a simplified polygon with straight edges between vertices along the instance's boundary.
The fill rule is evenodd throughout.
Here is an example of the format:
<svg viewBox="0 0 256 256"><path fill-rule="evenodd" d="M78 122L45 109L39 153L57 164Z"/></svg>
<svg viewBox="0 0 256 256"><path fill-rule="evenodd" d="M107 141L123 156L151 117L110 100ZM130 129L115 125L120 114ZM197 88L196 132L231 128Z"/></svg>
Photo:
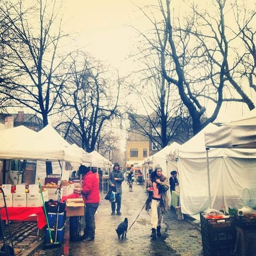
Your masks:
<svg viewBox="0 0 256 256"><path fill-rule="evenodd" d="M79 172L84 180L81 188L85 204L85 228L82 239L84 239L84 242L89 242L93 241L95 236L95 212L100 202L99 182L87 166L81 165Z"/></svg>

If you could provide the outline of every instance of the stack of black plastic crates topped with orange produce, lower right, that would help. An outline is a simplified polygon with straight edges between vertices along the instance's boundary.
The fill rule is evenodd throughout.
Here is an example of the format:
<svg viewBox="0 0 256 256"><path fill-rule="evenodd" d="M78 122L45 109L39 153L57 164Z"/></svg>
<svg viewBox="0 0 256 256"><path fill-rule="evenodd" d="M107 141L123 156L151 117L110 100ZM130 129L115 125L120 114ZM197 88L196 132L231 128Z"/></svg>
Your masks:
<svg viewBox="0 0 256 256"><path fill-rule="evenodd" d="M206 219L200 212L204 256L232 256L236 243L235 218Z"/></svg>

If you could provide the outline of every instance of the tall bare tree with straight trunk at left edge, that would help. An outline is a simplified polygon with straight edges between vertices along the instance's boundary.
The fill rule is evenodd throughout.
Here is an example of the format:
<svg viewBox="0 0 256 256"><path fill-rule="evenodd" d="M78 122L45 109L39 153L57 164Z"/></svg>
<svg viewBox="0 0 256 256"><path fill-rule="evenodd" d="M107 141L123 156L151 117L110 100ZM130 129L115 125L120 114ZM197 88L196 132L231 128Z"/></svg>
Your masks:
<svg viewBox="0 0 256 256"><path fill-rule="evenodd" d="M37 0L28 8L22 0L0 3L0 94L12 106L42 115L44 126L62 88L62 64L68 56L58 53L60 40L67 35L56 6L56 0Z"/></svg>

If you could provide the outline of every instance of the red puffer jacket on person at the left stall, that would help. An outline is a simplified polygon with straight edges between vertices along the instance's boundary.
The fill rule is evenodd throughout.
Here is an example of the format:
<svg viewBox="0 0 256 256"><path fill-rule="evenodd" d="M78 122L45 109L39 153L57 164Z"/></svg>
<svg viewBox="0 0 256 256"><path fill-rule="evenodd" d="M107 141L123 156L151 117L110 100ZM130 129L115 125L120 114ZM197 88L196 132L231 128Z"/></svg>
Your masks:
<svg viewBox="0 0 256 256"><path fill-rule="evenodd" d="M100 202L99 182L92 171L84 175L82 195L85 204L97 204Z"/></svg>

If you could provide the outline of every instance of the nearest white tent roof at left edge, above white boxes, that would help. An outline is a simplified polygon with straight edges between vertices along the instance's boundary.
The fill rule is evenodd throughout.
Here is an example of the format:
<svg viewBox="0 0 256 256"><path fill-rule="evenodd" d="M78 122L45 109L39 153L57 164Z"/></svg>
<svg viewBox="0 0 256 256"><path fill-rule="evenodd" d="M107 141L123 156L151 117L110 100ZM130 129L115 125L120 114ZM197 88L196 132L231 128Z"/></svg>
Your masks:
<svg viewBox="0 0 256 256"><path fill-rule="evenodd" d="M0 131L0 159L62 160L64 149L48 143L38 133L18 126Z"/></svg>

